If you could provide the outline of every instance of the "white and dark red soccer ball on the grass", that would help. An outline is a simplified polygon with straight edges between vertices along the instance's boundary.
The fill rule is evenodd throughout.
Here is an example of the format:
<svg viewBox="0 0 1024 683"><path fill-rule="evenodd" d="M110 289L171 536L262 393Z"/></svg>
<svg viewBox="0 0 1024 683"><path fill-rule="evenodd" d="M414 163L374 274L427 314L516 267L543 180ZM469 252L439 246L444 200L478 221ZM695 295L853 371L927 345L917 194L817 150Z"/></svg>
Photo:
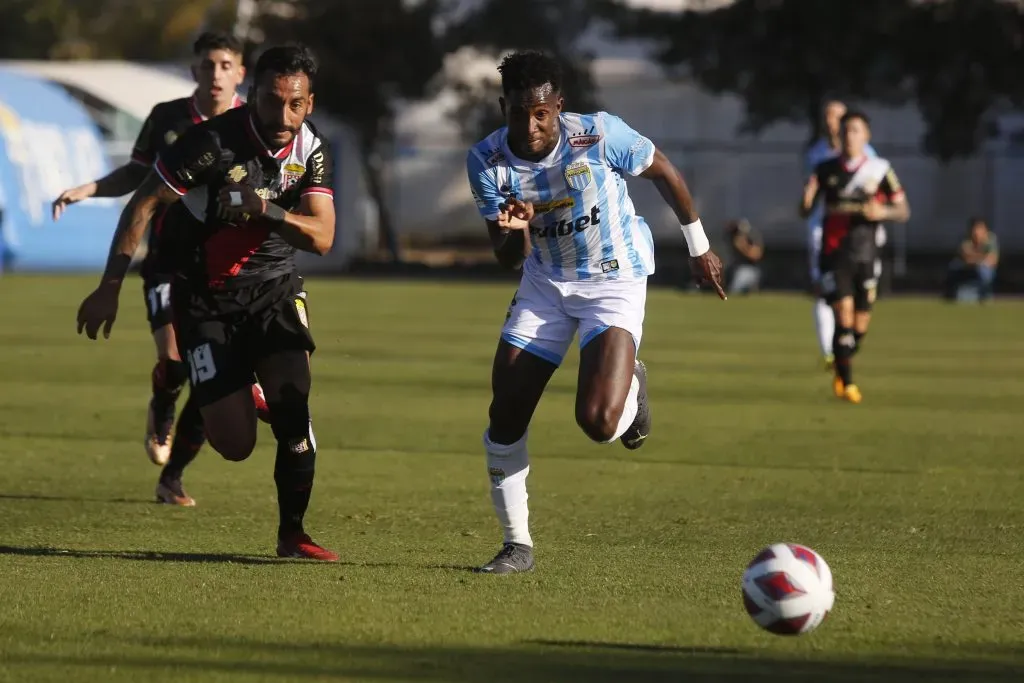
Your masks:
<svg viewBox="0 0 1024 683"><path fill-rule="evenodd" d="M776 543L743 572L743 606L754 623L780 636L799 636L821 625L836 602L831 569L816 552Z"/></svg>

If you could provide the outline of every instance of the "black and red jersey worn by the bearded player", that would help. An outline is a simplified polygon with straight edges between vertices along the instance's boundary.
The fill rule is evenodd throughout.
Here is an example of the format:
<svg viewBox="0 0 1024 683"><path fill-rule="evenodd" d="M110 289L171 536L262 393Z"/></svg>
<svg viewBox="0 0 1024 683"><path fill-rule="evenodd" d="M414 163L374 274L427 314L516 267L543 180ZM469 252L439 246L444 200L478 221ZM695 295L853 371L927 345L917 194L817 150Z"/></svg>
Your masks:
<svg viewBox="0 0 1024 683"><path fill-rule="evenodd" d="M297 210L307 195L334 196L330 147L315 126L304 122L287 146L271 150L248 105L189 128L160 154L155 169L193 217L191 225L173 226L189 232L195 267L186 276L215 289L295 269L295 248L269 223L221 214L217 195L224 185L248 184L286 211Z"/></svg>

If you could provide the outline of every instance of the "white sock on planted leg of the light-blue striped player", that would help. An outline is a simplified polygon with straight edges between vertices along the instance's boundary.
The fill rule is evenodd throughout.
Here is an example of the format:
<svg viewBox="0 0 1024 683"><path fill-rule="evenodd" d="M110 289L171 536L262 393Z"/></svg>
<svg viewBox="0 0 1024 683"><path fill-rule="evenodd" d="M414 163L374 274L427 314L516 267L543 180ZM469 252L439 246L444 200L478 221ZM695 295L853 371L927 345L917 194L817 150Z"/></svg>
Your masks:
<svg viewBox="0 0 1024 683"><path fill-rule="evenodd" d="M529 537L529 508L526 506L526 477L529 457L526 455L526 434L515 443L494 443L483 434L487 451L487 474L490 477L490 501L495 514L505 531L505 543L534 546Z"/></svg>

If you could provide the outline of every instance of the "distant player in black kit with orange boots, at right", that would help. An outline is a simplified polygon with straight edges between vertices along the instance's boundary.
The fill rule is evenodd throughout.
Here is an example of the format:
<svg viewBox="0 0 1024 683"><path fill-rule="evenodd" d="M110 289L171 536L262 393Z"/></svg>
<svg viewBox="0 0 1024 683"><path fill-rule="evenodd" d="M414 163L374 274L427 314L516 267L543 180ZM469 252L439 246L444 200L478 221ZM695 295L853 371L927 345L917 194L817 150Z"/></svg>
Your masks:
<svg viewBox="0 0 1024 683"><path fill-rule="evenodd" d="M853 382L851 360L867 334L878 289L879 224L905 222L910 206L892 165L868 157L870 122L860 112L842 120L842 154L814 169L804 187L801 215L824 201L821 237L821 291L836 313L836 395L852 403L862 399Z"/></svg>

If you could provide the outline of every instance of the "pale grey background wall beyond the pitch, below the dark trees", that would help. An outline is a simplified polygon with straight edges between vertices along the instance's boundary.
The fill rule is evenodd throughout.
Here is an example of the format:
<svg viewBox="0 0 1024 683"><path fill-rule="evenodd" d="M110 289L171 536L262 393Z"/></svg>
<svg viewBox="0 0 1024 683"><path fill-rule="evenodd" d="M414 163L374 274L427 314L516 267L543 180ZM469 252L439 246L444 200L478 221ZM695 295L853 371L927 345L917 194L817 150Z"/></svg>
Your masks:
<svg viewBox="0 0 1024 683"><path fill-rule="evenodd" d="M598 60L595 71L603 108L651 137L680 166L709 228L717 231L726 220L745 216L769 245L804 245L795 207L809 134L805 126L780 124L758 138L739 136L743 111L735 97L670 83L642 61ZM465 177L468 145L446 114L450 105L442 96L406 108L399 117L401 150L390 202L403 233L483 230ZM864 109L872 119L872 141L892 161L913 209L910 249L951 249L968 216L976 213L993 218L1004 248L1024 249L1024 230L1015 224L1024 209L1024 151L1016 158L979 154L943 166L920 152L924 124L914 108ZM649 183L633 180L631 193L655 239L681 240L671 211Z"/></svg>

